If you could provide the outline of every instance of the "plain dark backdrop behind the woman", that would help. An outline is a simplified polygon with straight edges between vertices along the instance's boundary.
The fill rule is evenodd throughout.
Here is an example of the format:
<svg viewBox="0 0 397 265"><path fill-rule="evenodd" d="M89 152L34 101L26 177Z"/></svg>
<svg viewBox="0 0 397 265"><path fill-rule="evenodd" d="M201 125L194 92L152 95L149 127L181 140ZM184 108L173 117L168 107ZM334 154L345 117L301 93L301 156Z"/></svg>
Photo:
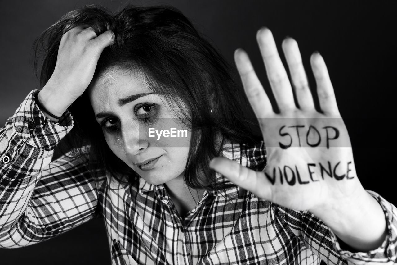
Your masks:
<svg viewBox="0 0 397 265"><path fill-rule="evenodd" d="M328 3L327 3L328 2ZM0 2L0 122L26 95L40 89L31 64L33 41L63 14L85 4L117 11L125 1ZM392 1L130 1L171 4L190 18L234 66L233 52L245 49L270 92L256 44L256 31L269 27L281 52L289 35L299 44L312 88L310 54L324 57L339 110L353 144L357 174L365 189L397 205L395 195L394 90L395 8ZM238 76L237 82L240 81ZM243 107L242 111L246 111ZM251 110L249 110L251 111ZM252 112L247 113L254 119ZM3 126L1 125L1 126ZM0 126L0 127L1 127ZM110 264L102 219L94 219L52 240L19 249L0 249L0 264Z"/></svg>

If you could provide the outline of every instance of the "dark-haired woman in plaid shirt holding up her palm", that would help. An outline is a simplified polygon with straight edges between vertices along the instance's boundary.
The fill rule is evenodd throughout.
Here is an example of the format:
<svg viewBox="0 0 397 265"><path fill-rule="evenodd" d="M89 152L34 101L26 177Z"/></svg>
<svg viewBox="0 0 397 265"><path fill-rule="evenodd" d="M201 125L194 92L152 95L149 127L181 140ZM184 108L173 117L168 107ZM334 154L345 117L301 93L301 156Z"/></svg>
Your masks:
<svg viewBox="0 0 397 265"><path fill-rule="evenodd" d="M236 111L224 61L173 8L89 6L43 39L43 88L0 131L2 247L103 215L114 264L397 261L396 209L358 181L318 53L322 113L296 42L283 51L299 108L272 33L258 31L276 114L236 51L260 140ZM187 133L172 139L172 128ZM62 138L72 149L51 162Z"/></svg>

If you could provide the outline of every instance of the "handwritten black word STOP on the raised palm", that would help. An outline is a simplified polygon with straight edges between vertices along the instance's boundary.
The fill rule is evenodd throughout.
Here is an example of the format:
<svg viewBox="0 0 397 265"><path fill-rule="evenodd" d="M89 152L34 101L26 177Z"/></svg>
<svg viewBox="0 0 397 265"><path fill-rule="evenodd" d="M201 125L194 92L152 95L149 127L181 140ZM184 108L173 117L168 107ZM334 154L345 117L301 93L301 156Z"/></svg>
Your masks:
<svg viewBox="0 0 397 265"><path fill-rule="evenodd" d="M288 128L296 129L299 147L301 146L301 134L300 134L299 129L304 128L304 127L305 127L305 125L293 125L293 126L288 127ZM287 132L282 132L283 129L285 129L285 125L282 126L279 130L280 136L289 137L290 141L289 141L289 144L283 144L283 143L279 142L279 145L282 149L287 149L287 148L291 147L291 145L292 145L292 136L291 136L291 134L289 134ZM327 148L330 148L330 140L335 140L339 137L339 130L332 126L325 126L325 127L322 127L322 129L325 130L325 134L326 134L325 138L326 138ZM332 134L333 134L333 136L331 137L330 135L332 135ZM313 125L310 125L307 130L307 133L306 133L306 144L310 147L316 147L316 146L319 146L320 143L321 143L320 131Z"/></svg>

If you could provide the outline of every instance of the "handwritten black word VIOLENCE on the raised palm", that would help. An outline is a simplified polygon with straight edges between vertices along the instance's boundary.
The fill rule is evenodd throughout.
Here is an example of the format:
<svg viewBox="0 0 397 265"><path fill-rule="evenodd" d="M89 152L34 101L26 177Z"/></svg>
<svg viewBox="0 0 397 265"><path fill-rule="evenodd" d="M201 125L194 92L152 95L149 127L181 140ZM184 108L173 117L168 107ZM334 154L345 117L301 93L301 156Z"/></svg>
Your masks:
<svg viewBox="0 0 397 265"><path fill-rule="evenodd" d="M319 181L319 175L321 178L324 180L325 177L331 177L336 180L342 180L344 178L346 179L353 179L354 176L349 176L349 172L351 169L349 169L349 165L351 164L351 161L347 162L347 170L345 171L345 174L337 173L341 172L341 167L339 166L341 162L337 162L335 165L331 165L331 162L327 161L327 165L323 165L321 163L318 164L307 164L307 171L304 172L302 176L306 177L301 177L301 173L299 172L297 166L284 166L284 167L277 167L273 168L272 175L269 175L268 173L264 172L268 180L274 185L276 183L276 179L279 179L280 183L283 184L284 181L288 185L295 185L295 184L308 184L310 181ZM315 171L319 173L315 173Z"/></svg>

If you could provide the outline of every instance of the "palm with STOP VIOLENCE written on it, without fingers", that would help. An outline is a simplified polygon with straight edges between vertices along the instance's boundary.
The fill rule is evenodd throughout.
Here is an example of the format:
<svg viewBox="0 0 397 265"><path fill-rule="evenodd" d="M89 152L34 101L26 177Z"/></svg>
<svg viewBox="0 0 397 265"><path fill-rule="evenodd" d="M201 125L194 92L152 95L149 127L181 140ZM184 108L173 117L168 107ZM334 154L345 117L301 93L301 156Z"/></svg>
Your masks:
<svg viewBox="0 0 397 265"><path fill-rule="evenodd" d="M342 119L313 116L263 119L267 166L258 196L311 210L355 193L358 179Z"/></svg>

